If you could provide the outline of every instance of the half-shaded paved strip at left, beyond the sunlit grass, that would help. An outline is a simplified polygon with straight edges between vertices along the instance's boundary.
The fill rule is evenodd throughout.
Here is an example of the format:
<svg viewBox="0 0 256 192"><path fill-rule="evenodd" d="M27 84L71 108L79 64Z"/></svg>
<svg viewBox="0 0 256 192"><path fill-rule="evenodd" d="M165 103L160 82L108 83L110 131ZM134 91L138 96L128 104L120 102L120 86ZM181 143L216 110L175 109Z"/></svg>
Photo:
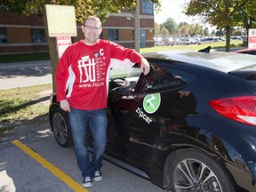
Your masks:
<svg viewBox="0 0 256 192"><path fill-rule="evenodd" d="M0 90L52 84L50 60L0 63L0 71Z"/></svg>

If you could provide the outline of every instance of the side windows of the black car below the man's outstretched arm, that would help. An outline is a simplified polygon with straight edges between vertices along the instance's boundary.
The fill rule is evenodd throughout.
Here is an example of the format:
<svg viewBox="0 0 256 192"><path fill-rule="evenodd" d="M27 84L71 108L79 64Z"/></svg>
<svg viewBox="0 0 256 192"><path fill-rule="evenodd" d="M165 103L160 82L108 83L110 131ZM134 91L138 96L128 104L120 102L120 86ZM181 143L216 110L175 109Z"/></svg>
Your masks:
<svg viewBox="0 0 256 192"><path fill-rule="evenodd" d="M140 68L111 69L109 92L143 93L177 90L192 81L194 76L159 63L150 63L147 76Z"/></svg>

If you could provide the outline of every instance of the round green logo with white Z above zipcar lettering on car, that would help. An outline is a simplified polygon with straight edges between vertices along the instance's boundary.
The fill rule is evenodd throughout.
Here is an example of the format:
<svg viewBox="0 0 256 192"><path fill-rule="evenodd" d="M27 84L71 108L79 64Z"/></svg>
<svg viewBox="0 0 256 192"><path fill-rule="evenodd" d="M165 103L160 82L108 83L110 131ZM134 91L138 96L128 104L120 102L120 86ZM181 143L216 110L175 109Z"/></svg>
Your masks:
<svg viewBox="0 0 256 192"><path fill-rule="evenodd" d="M148 114L155 113L161 103L160 93L148 94L143 100L143 108Z"/></svg>

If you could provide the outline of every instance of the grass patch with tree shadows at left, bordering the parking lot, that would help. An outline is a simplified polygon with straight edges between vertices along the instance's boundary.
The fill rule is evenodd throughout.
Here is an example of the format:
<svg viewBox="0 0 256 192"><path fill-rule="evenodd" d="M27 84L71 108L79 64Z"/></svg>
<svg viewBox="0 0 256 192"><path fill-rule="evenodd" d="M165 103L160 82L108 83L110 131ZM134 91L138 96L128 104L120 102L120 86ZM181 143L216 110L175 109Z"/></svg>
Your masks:
<svg viewBox="0 0 256 192"><path fill-rule="evenodd" d="M0 90L0 133L9 132L20 121L47 114L49 104L42 102L49 103L48 91L52 91L52 84Z"/></svg>

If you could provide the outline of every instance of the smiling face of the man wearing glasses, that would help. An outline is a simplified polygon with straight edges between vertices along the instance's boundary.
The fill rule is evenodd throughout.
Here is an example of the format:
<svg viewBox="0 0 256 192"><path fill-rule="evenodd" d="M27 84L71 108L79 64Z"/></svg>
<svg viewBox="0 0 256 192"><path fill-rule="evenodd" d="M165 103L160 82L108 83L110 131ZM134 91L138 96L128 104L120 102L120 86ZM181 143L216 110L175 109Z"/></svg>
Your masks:
<svg viewBox="0 0 256 192"><path fill-rule="evenodd" d="M93 45L99 39L102 28L96 20L86 20L82 30L84 32L84 44Z"/></svg>

